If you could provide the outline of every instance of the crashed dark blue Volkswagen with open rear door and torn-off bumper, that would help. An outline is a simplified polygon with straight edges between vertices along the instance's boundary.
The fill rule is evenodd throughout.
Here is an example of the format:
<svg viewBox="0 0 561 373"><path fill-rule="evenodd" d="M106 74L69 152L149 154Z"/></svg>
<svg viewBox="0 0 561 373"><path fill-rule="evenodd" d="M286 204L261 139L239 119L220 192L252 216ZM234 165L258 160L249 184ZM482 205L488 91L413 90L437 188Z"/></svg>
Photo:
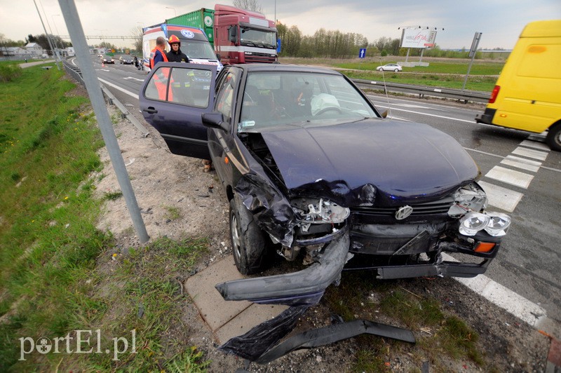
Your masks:
<svg viewBox="0 0 561 373"><path fill-rule="evenodd" d="M212 66L159 63L140 92L142 114L173 154L212 161L241 273L260 273L279 256L306 265L216 285L226 300L292 306L225 349L266 362L361 333L414 341L407 331L356 320L334 336L327 328L314 341L306 334L270 349L344 270L380 279L486 271L511 220L485 210L480 170L452 137L387 119L330 69L229 65L216 74ZM464 261L446 261L444 252Z"/></svg>

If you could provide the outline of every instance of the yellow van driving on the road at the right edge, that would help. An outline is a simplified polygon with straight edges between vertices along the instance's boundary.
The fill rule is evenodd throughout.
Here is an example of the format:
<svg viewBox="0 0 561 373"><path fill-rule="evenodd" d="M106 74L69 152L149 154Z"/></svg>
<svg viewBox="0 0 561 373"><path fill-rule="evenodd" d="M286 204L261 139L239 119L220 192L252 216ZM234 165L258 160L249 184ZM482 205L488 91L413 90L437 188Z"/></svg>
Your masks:
<svg viewBox="0 0 561 373"><path fill-rule="evenodd" d="M477 123L542 133L561 151L561 20L530 22Z"/></svg>

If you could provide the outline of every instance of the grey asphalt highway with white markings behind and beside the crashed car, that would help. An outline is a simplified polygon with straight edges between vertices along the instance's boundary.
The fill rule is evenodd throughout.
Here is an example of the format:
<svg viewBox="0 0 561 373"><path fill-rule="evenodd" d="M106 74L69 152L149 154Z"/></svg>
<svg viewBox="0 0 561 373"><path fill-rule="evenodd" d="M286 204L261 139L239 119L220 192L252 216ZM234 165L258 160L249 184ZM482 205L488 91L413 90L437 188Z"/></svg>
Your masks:
<svg viewBox="0 0 561 373"><path fill-rule="evenodd" d="M102 67L99 58L93 61L104 86L142 121L137 94L146 73L119 62ZM393 118L442 130L468 151L480 167L488 210L513 218L486 276L561 322L561 153L550 151L543 135L475 123L483 104L383 95L370 99L379 109L389 109Z"/></svg>

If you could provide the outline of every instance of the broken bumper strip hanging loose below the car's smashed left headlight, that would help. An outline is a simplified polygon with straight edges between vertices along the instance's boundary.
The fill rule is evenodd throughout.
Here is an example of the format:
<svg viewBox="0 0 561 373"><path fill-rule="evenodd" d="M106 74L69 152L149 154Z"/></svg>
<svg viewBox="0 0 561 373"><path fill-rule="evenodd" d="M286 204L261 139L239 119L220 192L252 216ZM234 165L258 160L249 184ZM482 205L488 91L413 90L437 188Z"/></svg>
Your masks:
<svg viewBox="0 0 561 373"><path fill-rule="evenodd" d="M215 287L227 301L248 300L289 306L317 304L325 289L339 280L349 253L349 233L332 240L318 262L308 268L275 276L244 278Z"/></svg>

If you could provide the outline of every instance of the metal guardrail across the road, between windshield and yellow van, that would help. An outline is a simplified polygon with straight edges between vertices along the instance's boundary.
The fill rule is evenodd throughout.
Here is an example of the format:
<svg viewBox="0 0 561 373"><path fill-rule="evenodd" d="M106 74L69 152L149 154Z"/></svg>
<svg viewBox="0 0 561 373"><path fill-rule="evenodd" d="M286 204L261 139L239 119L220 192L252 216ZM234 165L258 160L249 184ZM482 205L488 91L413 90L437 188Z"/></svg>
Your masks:
<svg viewBox="0 0 561 373"><path fill-rule="evenodd" d="M428 86L411 86L409 84L400 83L384 83L383 81L367 81L364 79L351 79L360 88L372 90L381 90L384 93L398 92L410 95L419 95L419 97L442 97L467 102L483 102L487 103L490 93L479 92L475 90L461 90L452 88L435 88Z"/></svg>

